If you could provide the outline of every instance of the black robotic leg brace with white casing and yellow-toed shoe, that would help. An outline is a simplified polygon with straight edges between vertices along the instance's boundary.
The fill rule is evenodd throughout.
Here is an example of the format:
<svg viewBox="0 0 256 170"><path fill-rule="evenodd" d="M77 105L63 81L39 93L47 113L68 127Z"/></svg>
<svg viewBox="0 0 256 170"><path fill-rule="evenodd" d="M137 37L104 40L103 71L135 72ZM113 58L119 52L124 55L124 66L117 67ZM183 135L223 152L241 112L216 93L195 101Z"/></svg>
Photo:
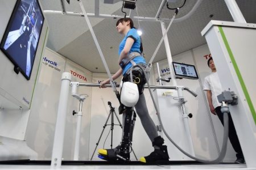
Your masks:
<svg viewBox="0 0 256 170"><path fill-rule="evenodd" d="M142 70L141 70L142 71ZM134 106L137 104L139 95L143 93L144 80L142 72L138 70L133 71L133 83L131 83L130 74L123 77L123 85L121 94L118 97L120 102L119 114L125 114L125 121L123 125L123 138L117 147L113 149L98 150L98 157L108 161L129 161L130 150L133 142L133 130L136 120L136 113Z"/></svg>

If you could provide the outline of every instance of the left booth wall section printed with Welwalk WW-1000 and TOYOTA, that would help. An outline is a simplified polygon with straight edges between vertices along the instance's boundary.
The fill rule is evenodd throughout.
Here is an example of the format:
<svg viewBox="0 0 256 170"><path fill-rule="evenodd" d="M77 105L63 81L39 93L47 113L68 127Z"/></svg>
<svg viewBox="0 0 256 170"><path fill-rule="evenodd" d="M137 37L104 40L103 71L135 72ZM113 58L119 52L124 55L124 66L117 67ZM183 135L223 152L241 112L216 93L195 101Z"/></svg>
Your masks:
<svg viewBox="0 0 256 170"><path fill-rule="evenodd" d="M60 100L61 74L63 72L69 72L72 73L72 81L91 83L92 73L48 48L41 62L42 69L40 70L39 81L36 84L26 139L28 146L38 152L38 159L49 160L52 156L57 107ZM88 153L89 145L91 91L90 87L79 88L77 91L79 94L89 96L82 106L84 115L82 116L81 126L81 159L88 158L88 156L85 155ZM67 111L63 158L72 159L77 121L77 116L73 116L72 112L79 111L79 101L71 95L68 99Z"/></svg>

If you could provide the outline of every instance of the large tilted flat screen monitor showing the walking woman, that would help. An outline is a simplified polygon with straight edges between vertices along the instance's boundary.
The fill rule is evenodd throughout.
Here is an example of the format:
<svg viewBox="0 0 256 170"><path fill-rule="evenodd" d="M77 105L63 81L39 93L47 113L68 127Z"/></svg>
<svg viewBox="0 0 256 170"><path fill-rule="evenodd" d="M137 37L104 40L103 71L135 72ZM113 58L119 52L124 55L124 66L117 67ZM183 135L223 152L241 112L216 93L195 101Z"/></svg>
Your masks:
<svg viewBox="0 0 256 170"><path fill-rule="evenodd" d="M14 63L14 71L30 79L44 16L38 0L16 1L0 49Z"/></svg>

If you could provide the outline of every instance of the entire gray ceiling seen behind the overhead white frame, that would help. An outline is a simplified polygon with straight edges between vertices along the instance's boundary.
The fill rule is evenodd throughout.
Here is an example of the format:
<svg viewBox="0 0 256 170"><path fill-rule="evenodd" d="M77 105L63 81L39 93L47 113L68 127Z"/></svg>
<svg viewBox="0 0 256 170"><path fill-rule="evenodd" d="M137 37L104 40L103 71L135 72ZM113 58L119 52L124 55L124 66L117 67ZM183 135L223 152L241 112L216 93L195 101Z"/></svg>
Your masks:
<svg viewBox="0 0 256 170"><path fill-rule="evenodd" d="M82 1L88 12L94 11L94 0ZM140 16L154 17L162 0L138 0L137 8ZM170 6L179 6L183 1L170 4ZM61 10L60 1L57 0L41 0L44 10ZM180 9L176 18L186 15L195 5L196 0L189 0L185 6ZM255 0L239 0L242 14L249 23L256 23L256 1ZM123 15L121 12L122 2L114 5L104 4L100 0L101 14ZM71 0L71 5L67 5L67 10L80 12L77 1ZM129 14L129 10L127 15ZM163 7L160 18L171 18L174 11ZM213 14L213 17L209 16ZM133 10L132 16L137 16L137 12ZM98 73L106 73L102 65L100 55L92 39L90 31L84 18L66 15L46 15L49 24L49 39L47 46L63 56L78 63L82 67ZM213 20L232 21L228 8L224 1L221 0L203 0L196 12L183 22L175 22L171 25L168 32L168 39L172 55L179 54L185 50L195 48L206 43L204 37L201 36L201 30ZM115 29L117 19L96 19L90 18L90 22L94 26L102 52L106 58L106 62L110 67L110 71L115 73L119 69L118 61L118 45L122 40ZM138 27L138 20L134 20L135 27ZM166 22L168 25L168 22ZM146 54L146 60L149 61L158 42L162 37L162 30L159 22L140 22L143 31L143 48ZM166 58L166 50L164 45L159 49L155 62ZM97 69L96 69L97 67Z"/></svg>

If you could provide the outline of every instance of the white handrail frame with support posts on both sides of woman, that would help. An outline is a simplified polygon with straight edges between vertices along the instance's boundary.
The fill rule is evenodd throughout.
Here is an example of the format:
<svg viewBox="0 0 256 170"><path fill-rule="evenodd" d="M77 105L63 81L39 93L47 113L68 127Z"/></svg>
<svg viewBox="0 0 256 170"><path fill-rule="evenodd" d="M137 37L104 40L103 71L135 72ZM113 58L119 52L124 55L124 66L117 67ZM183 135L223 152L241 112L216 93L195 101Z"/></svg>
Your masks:
<svg viewBox="0 0 256 170"><path fill-rule="evenodd" d="M81 96L77 95L77 87L79 87L79 86L99 87L100 84L71 82L71 74L70 73L63 73L63 75L61 76L60 100L59 100L59 107L58 107L58 112L57 112L55 136L54 136L54 141L53 141L51 169L59 169L61 167L61 159L62 159L63 143L64 143L64 129L65 129L65 120L66 120L66 115L67 115L68 95L69 95L69 87L70 86L72 87L72 91L71 91L72 96L76 97L77 99L80 99ZM112 87L112 86L109 84L109 85L106 85L106 87ZM116 87L119 87L119 85L117 85ZM148 86L145 86L145 88L148 88ZM180 93L180 91L182 93L183 90L186 90L191 95L193 95L195 97L197 96L197 94L195 94L195 92L193 92L189 88L183 87L183 86L150 86L150 88L152 88L152 89L155 89L155 88L173 89L173 90L177 90L178 94ZM179 94L179 96L180 96L180 101L183 101L184 97L180 94ZM181 105L183 105L183 107L184 107L183 102L181 102ZM81 108L81 101L80 101L80 108ZM79 111L80 111L80 116L77 119L78 122L77 122L77 129L76 129L74 160L79 159L81 116L82 116L81 109L79 109ZM188 118L188 116L187 116L187 114L185 114L185 112L183 112L183 118ZM184 119L184 122L185 122L185 119ZM187 126L186 126L186 128L187 128ZM190 133L188 130L189 129L186 129L186 133L188 135L188 139L189 138L191 139L191 136L189 136ZM195 155L192 147L191 147L190 152L191 152L191 154Z"/></svg>

